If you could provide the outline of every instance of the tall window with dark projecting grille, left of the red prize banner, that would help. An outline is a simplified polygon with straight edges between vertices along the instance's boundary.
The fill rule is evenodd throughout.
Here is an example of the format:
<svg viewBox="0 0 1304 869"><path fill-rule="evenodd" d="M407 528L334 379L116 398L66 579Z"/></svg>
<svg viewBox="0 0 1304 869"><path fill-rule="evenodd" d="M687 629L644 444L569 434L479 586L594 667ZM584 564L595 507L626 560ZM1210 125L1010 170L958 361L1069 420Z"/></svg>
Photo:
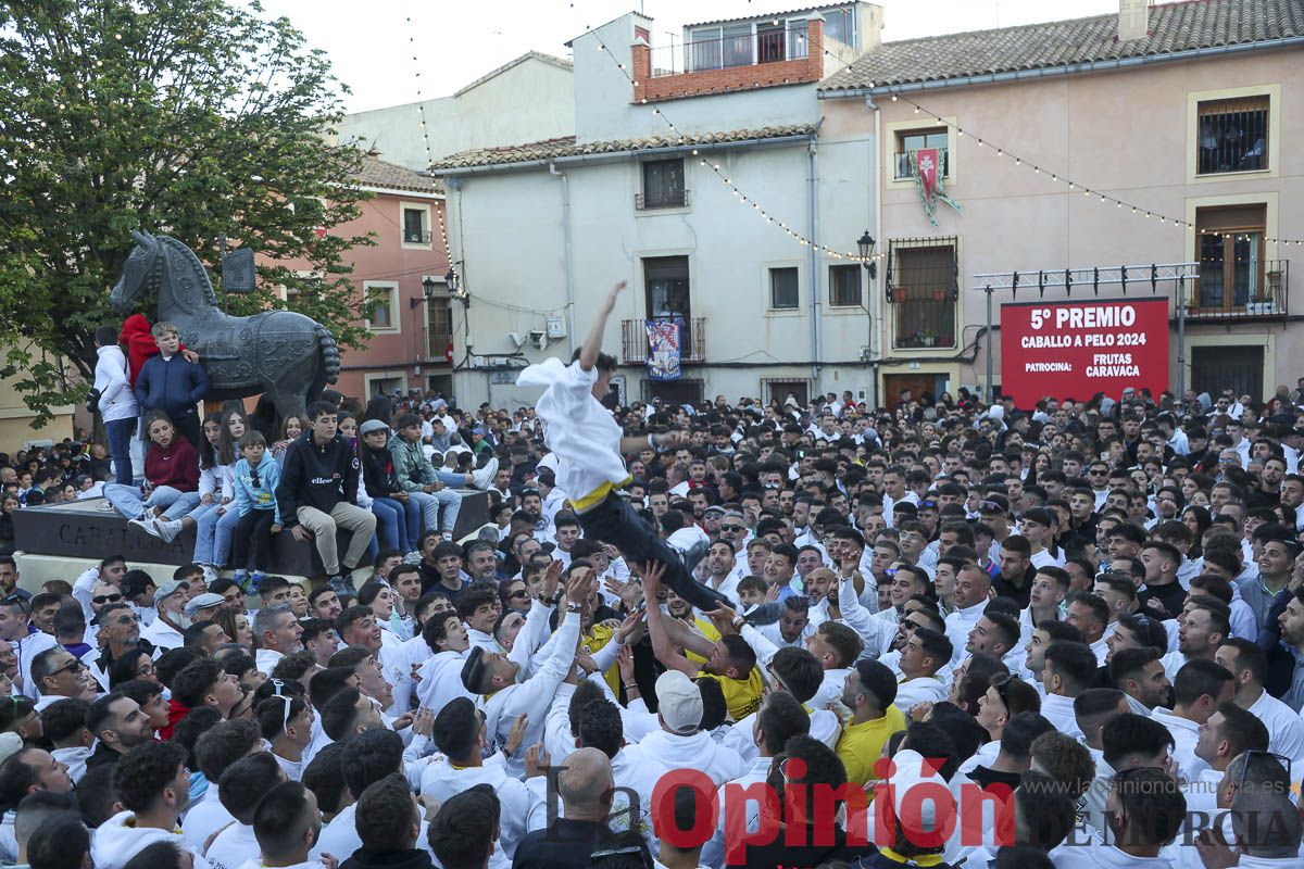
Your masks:
<svg viewBox="0 0 1304 869"><path fill-rule="evenodd" d="M955 238L893 240L888 288L898 348L955 347L958 261Z"/></svg>

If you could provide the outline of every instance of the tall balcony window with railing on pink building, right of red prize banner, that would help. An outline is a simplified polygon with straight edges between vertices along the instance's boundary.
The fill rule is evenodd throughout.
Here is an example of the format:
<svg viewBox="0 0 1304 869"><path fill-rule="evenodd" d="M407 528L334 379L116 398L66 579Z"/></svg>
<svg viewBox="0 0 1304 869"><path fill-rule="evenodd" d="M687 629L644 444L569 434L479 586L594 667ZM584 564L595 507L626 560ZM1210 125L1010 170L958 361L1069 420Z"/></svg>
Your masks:
<svg viewBox="0 0 1304 869"><path fill-rule="evenodd" d="M1230 206L1196 210L1196 245L1200 251L1198 309L1271 313L1274 293L1264 283L1264 227L1266 206Z"/></svg>

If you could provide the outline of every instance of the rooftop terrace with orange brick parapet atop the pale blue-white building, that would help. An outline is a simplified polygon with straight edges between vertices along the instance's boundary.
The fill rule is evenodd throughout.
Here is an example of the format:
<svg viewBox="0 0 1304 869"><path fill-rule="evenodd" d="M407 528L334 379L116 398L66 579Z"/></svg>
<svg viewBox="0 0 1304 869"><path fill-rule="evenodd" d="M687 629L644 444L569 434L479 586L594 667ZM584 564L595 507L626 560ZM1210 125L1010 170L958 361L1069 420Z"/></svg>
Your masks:
<svg viewBox="0 0 1304 869"><path fill-rule="evenodd" d="M805 29L695 39L678 46L634 46L634 103L818 82L824 74L824 22Z"/></svg>

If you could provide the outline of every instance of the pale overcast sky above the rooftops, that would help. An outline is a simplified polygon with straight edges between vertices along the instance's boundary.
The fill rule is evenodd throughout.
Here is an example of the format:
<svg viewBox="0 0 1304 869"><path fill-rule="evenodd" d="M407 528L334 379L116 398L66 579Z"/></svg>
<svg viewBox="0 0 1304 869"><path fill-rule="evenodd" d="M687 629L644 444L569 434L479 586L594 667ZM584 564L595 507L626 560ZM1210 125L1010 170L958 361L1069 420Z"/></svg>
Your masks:
<svg viewBox="0 0 1304 869"><path fill-rule="evenodd" d="M685 23L801 8L802 0L262 0L352 89L351 112L443 96L527 51L567 56L565 43L639 9L656 21L653 46ZM879 0L884 40L985 30L1116 12L1118 0ZM411 40L411 42L409 42ZM413 60L416 57L416 60ZM420 77L417 77L420 72ZM420 95L419 95L420 91Z"/></svg>

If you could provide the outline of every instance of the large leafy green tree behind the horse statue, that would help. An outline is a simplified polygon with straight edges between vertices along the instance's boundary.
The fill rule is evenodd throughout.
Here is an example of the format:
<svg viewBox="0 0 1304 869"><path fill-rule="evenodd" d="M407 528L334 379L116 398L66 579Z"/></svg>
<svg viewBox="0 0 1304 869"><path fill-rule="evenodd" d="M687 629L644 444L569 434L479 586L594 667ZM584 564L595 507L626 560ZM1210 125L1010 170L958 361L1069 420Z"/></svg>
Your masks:
<svg viewBox="0 0 1304 869"><path fill-rule="evenodd" d="M344 255L363 154L333 141L347 93L289 21L226 0L0 4L0 328L27 406L77 400L130 229L196 250L220 293L216 237L259 254L232 314L287 306L346 347L366 331ZM297 264L297 267L292 267ZM142 309L153 319L151 309ZM69 371L73 374L69 377ZM80 377L77 377L80 374Z"/></svg>

